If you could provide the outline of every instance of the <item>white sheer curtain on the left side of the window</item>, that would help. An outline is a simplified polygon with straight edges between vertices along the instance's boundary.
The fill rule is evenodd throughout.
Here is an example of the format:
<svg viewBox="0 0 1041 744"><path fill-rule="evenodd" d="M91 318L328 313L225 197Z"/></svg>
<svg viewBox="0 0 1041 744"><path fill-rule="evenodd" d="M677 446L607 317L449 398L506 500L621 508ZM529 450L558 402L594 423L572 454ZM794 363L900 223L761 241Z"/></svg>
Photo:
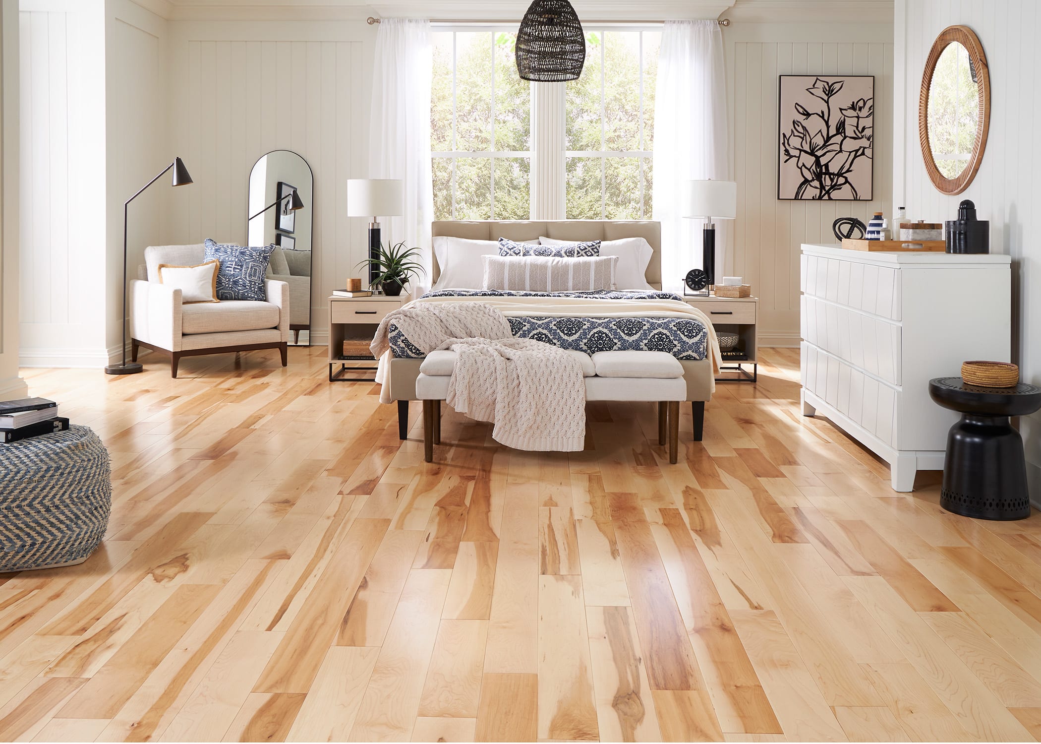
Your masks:
<svg viewBox="0 0 1041 744"><path fill-rule="evenodd" d="M385 219L383 240L420 246L427 275L418 282L425 287L431 283L430 222L434 219L432 77L430 21L384 18L376 36L369 177L404 181L405 215Z"/></svg>

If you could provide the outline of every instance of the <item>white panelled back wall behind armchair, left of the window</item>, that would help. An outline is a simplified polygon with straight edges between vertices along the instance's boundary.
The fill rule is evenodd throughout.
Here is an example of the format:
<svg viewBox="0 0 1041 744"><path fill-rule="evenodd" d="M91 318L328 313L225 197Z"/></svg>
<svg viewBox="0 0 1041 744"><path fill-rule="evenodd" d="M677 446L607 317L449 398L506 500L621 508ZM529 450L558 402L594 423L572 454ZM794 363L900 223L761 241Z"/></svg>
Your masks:
<svg viewBox="0 0 1041 744"><path fill-rule="evenodd" d="M293 150L314 172L313 343L328 338L326 298L365 257L365 221L346 217L347 179L367 177L376 30L364 14L329 22L172 21L173 150L195 184L175 190L172 243L246 240L254 163ZM310 206L310 205L308 205Z"/></svg>

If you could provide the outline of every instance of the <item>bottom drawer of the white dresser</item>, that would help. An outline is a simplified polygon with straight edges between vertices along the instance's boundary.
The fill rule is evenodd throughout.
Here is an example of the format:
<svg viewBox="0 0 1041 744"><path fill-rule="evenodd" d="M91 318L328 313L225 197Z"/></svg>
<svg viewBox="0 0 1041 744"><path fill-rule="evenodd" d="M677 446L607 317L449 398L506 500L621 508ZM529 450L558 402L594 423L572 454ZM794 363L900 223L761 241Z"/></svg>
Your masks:
<svg viewBox="0 0 1041 744"><path fill-rule="evenodd" d="M805 341L802 357L804 388L883 443L897 446L900 391Z"/></svg>

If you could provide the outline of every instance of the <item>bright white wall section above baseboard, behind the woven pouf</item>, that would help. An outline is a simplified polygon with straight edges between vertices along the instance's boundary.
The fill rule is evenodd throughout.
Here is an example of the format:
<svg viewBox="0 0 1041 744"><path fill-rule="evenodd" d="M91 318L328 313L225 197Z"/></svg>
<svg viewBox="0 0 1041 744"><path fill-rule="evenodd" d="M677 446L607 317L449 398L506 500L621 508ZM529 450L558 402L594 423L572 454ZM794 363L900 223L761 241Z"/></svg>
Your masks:
<svg viewBox="0 0 1041 744"><path fill-rule="evenodd" d="M102 0L21 3L23 366L95 366L105 352Z"/></svg>

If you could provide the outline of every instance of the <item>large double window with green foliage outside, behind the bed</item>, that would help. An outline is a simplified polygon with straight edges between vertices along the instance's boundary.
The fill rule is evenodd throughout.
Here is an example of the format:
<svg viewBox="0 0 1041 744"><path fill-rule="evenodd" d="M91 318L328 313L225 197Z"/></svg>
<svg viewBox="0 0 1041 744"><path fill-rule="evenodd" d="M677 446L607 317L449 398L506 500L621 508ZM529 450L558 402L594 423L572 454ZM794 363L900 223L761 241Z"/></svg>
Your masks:
<svg viewBox="0 0 1041 744"><path fill-rule="evenodd" d="M531 214L532 162L540 153L531 151L531 85L517 75L516 28L433 32L438 220L526 220ZM542 171L564 187L566 219L651 218L660 46L660 27L586 30L585 67L565 83L565 121L556 124L565 132L564 170Z"/></svg>

